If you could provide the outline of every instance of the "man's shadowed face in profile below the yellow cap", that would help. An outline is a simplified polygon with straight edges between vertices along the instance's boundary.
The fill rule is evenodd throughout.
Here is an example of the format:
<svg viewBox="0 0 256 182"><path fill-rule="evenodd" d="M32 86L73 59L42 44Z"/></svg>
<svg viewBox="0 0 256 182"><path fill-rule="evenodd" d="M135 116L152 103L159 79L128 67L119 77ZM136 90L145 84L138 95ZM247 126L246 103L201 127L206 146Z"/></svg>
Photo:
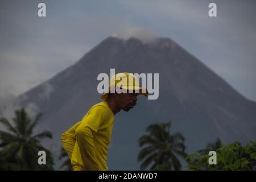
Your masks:
<svg viewBox="0 0 256 182"><path fill-rule="evenodd" d="M137 93L120 93L117 94L117 103L120 109L129 111L137 103Z"/></svg>

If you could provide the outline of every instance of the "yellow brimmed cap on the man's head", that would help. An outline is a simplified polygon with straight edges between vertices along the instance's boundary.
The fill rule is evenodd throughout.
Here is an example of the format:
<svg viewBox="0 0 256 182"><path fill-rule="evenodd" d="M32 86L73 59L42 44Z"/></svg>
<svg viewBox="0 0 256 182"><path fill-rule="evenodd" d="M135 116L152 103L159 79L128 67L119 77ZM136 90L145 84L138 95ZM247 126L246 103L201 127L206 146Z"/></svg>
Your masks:
<svg viewBox="0 0 256 182"><path fill-rule="evenodd" d="M139 86L139 82L133 74L117 73L110 78L108 93L102 94L101 98L105 100L106 98L108 98L109 93L115 93L115 86L118 86L120 89L123 90L138 90L139 95L143 95L146 97L148 95L147 89Z"/></svg>

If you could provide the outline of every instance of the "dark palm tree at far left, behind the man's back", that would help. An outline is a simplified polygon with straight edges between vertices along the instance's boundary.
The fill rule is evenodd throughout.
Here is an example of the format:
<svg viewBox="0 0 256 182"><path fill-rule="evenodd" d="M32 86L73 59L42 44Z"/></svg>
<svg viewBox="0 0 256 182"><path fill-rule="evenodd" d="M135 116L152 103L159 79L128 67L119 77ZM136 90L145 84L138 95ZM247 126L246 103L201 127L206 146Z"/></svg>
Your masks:
<svg viewBox="0 0 256 182"><path fill-rule="evenodd" d="M8 131L0 130L1 159L5 162L6 169L14 170L40 170L53 169L51 152L40 144L40 139L52 138L49 131L33 135L33 130L38 124L41 113L31 122L26 111L22 108L15 110L15 118L12 125L6 118L0 118L0 122L7 127ZM38 164L38 152L45 151L47 164Z"/></svg>

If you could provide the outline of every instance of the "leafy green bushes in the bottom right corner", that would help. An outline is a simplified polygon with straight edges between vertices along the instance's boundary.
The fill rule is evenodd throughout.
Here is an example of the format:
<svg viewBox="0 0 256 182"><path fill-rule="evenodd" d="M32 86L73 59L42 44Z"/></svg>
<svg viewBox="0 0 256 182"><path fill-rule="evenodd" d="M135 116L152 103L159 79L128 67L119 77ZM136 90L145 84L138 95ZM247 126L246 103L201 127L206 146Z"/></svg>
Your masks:
<svg viewBox="0 0 256 182"><path fill-rule="evenodd" d="M239 142L221 146L216 150L217 164L210 165L208 154L199 152L188 155L187 168L191 170L255 170L256 169L256 140L241 146Z"/></svg>

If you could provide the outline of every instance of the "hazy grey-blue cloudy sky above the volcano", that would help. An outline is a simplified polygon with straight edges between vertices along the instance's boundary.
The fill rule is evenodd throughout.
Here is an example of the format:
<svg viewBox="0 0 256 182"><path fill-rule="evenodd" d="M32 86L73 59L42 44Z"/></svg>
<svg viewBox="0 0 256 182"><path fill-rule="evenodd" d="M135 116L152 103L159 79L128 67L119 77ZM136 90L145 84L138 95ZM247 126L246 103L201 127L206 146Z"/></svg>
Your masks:
<svg viewBox="0 0 256 182"><path fill-rule="evenodd" d="M210 2L217 17L208 16ZM255 12L249 0L1 1L0 97L25 92L117 35L171 38L256 101Z"/></svg>

